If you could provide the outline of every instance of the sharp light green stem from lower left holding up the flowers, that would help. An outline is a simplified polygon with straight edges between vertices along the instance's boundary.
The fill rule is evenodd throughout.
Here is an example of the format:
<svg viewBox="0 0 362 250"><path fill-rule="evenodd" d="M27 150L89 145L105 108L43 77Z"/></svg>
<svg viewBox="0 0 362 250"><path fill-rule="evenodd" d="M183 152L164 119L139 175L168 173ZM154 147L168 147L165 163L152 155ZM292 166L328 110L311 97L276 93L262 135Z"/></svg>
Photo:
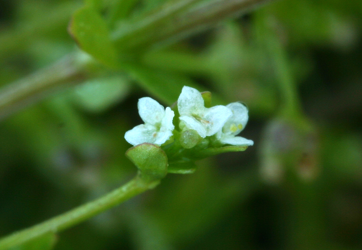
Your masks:
<svg viewBox="0 0 362 250"><path fill-rule="evenodd" d="M15 232L0 240L0 250L6 250L14 246L18 246L28 240L39 237L48 232L60 232L68 229L80 222L83 222L94 215L97 215L109 208L112 208L134 196L140 194L148 189L154 188L158 185L157 181L145 181L140 175L118 187L105 196L87 203L78 208L74 208L64 214L56 216L41 224L33 226L28 229Z"/></svg>

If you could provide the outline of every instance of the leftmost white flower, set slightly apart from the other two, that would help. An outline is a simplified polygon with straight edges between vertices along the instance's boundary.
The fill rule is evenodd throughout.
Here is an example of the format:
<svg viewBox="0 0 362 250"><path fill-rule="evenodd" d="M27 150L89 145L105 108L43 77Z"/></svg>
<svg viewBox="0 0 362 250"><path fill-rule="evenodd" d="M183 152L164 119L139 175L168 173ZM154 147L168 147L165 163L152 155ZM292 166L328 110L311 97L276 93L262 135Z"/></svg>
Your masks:
<svg viewBox="0 0 362 250"><path fill-rule="evenodd" d="M172 119L175 116L171 108L164 107L150 97L138 100L138 112L145 124L135 126L126 132L124 138L136 146L142 143L155 145L164 144L171 136L175 126Z"/></svg>

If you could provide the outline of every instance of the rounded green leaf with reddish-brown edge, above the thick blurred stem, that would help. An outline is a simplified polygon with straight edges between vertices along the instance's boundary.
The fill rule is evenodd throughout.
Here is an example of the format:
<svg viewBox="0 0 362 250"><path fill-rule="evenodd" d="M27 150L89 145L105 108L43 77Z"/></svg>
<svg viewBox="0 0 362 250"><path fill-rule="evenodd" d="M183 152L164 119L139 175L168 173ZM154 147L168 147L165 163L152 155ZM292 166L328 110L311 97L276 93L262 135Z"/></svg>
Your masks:
<svg viewBox="0 0 362 250"><path fill-rule="evenodd" d="M112 68L119 66L107 24L92 7L85 6L76 11L68 31L79 47L96 60Z"/></svg>

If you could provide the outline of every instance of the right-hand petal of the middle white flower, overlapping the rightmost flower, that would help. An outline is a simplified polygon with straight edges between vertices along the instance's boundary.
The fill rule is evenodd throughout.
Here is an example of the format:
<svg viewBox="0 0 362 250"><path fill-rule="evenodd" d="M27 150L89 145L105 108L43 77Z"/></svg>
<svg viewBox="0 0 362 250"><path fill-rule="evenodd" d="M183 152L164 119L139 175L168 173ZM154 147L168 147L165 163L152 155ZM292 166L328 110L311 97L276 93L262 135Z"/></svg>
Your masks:
<svg viewBox="0 0 362 250"><path fill-rule="evenodd" d="M206 122L206 135L211 136L222 129L232 112L226 106L218 105L205 110L202 119Z"/></svg>

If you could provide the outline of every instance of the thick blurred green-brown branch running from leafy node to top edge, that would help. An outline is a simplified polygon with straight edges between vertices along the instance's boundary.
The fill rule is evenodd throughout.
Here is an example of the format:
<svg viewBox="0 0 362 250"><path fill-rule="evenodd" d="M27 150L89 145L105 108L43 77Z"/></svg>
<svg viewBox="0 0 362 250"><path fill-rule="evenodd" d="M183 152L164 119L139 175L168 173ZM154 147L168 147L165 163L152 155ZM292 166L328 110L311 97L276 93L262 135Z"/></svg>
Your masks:
<svg viewBox="0 0 362 250"><path fill-rule="evenodd" d="M113 41L124 50L145 50L180 41L268 1L271 0L183 0L172 8L163 5L153 15L127 25L126 30L121 26L113 33Z"/></svg>

